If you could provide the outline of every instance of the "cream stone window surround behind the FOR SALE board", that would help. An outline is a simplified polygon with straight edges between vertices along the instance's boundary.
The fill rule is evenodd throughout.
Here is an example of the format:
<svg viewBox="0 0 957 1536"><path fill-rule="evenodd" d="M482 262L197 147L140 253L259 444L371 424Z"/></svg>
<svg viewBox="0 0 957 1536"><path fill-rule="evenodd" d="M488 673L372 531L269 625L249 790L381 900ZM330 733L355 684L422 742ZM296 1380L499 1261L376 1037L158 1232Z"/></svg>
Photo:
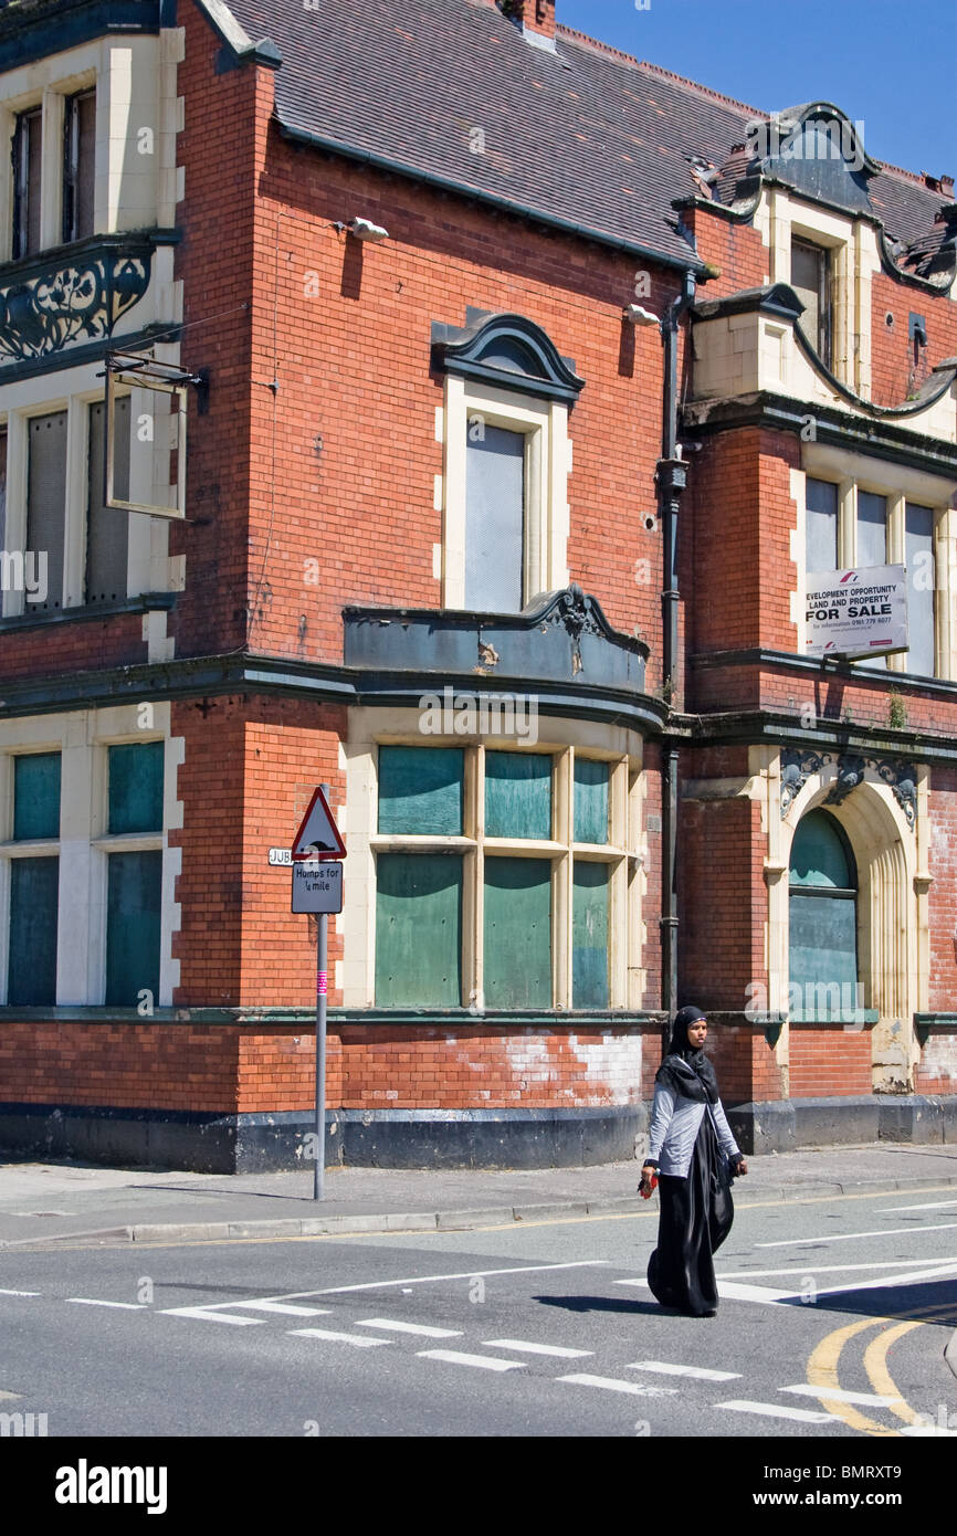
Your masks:
<svg viewBox="0 0 957 1536"><path fill-rule="evenodd" d="M929 507L934 513L934 631L935 677L957 680L957 622L951 608L957 599L957 510L949 507L957 482L925 475L905 465L876 461L828 444L802 444L802 468L791 470L791 496L797 505L797 527L791 535L791 559L797 565L797 591L791 593L791 619L797 627L797 651L805 654L805 519L806 479L837 485L837 558L842 568L857 558L857 492L866 490L888 499L888 564L905 564L905 504ZM891 673L906 673L906 653L886 657Z"/></svg>

